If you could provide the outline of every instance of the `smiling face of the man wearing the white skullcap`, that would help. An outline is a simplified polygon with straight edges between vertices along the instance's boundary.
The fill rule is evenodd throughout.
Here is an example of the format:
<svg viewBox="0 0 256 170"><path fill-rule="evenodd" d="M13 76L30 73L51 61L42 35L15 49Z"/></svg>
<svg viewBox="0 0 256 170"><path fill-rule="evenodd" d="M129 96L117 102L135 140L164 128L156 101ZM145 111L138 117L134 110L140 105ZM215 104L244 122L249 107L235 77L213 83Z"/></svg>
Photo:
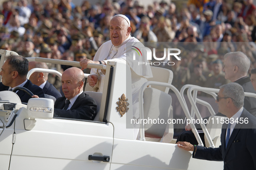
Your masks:
<svg viewBox="0 0 256 170"><path fill-rule="evenodd" d="M130 35L131 27L120 16L116 16L110 21L110 39L114 46L121 45L126 38Z"/></svg>

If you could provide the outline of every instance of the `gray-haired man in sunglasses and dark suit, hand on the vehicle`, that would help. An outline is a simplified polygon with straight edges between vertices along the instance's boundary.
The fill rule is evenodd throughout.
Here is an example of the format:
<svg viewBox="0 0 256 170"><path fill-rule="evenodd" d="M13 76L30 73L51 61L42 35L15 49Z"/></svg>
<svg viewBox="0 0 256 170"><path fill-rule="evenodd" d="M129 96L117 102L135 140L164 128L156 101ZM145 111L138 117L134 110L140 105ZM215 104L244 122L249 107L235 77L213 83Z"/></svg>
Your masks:
<svg viewBox="0 0 256 170"><path fill-rule="evenodd" d="M178 147L193 151L193 157L224 161L224 170L256 170L256 117L243 108L244 92L238 83L220 87L216 103L227 116L219 148L206 148L179 141ZM228 123L228 124L227 124Z"/></svg>

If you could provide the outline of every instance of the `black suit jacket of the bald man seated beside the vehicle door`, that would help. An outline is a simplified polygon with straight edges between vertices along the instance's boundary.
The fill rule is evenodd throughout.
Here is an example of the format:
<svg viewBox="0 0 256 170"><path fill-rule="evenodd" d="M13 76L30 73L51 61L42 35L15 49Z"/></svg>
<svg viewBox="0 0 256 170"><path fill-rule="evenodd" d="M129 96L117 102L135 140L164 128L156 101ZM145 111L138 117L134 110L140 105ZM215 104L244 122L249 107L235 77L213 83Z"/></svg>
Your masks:
<svg viewBox="0 0 256 170"><path fill-rule="evenodd" d="M69 110L63 110L65 96L58 98L54 105L54 116L72 119L93 120L96 115L97 104L93 98L86 93L81 93Z"/></svg>

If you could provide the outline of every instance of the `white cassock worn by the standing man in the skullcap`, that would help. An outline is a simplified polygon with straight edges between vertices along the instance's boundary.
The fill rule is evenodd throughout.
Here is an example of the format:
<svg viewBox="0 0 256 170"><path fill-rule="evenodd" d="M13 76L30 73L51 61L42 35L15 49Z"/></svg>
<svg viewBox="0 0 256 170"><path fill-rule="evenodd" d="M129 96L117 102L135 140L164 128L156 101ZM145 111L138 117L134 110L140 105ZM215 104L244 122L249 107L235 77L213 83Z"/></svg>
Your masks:
<svg viewBox="0 0 256 170"><path fill-rule="evenodd" d="M133 95L133 119L139 118L139 89L142 86L143 83L147 81L147 78L152 77L152 71L150 69L149 64L143 64L138 65L138 62L148 62L146 60L146 55L143 55L143 57L136 57L136 60L134 61L133 58L130 55L131 53L135 52L131 45L134 45L143 51L141 47L144 47L144 45L139 42L138 39L129 36L121 45L114 46L111 41L105 42L103 45L100 46L100 48L97 50L94 61L104 61L107 63L107 61L116 61L124 64L129 64L131 69L131 79L132 79L132 95ZM128 55L128 53L130 53ZM129 58L126 58L126 56L129 56ZM98 76L101 73L100 70L97 70L95 68L91 69L91 74L97 74ZM104 84L104 76L100 75L101 80L99 80L99 83L94 86L92 91L98 91L102 92L103 90L103 84ZM88 85L87 85L88 86ZM135 136L137 137L138 131L139 131L139 125L135 125ZM135 137L135 138L136 138Z"/></svg>

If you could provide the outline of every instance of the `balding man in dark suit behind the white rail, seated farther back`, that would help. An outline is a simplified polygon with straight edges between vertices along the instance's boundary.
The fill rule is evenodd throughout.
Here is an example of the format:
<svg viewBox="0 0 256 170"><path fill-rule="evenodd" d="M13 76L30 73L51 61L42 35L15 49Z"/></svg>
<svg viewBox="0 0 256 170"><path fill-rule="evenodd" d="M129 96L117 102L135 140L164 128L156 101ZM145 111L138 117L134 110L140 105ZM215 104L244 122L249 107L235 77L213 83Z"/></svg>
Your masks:
<svg viewBox="0 0 256 170"><path fill-rule="evenodd" d="M29 61L29 71L33 68L45 68L49 69L46 63L36 62L36 61ZM61 93L51 84L48 80L48 73L43 72L34 72L29 77L29 80L36 84L37 86L41 87L45 94L54 96L56 99L61 97Z"/></svg>

